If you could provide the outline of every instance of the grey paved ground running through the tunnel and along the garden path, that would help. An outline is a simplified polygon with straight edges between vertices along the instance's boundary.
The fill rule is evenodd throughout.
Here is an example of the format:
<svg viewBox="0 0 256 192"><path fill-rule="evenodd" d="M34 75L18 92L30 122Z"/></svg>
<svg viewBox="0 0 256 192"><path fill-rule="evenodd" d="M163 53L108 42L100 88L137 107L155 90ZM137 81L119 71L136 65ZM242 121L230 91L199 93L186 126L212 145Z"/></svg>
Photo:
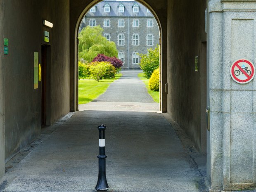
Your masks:
<svg viewBox="0 0 256 192"><path fill-rule="evenodd" d="M94 192L97 126L102 123L107 126L109 192L206 191L205 156L194 149L175 122L159 113L159 104L148 97L136 75L137 71L124 71L123 78L111 84L97 102L81 105L81 111L44 128L40 138L7 164L2 191ZM123 83L126 86L120 88ZM120 97L127 100L109 100L124 89L129 91ZM116 90L114 94L112 90ZM138 93L138 100L127 96L137 98ZM143 102L144 97L149 99Z"/></svg>

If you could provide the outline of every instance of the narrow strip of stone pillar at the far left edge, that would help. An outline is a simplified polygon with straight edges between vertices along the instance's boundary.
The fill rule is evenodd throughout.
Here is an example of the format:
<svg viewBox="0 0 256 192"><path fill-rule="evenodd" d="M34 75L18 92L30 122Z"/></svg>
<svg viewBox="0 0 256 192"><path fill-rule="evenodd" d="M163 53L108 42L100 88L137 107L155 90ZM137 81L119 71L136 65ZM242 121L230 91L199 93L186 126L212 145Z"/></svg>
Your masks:
<svg viewBox="0 0 256 192"><path fill-rule="evenodd" d="M5 174L5 135L4 135L4 0L0 0L0 183Z"/></svg>

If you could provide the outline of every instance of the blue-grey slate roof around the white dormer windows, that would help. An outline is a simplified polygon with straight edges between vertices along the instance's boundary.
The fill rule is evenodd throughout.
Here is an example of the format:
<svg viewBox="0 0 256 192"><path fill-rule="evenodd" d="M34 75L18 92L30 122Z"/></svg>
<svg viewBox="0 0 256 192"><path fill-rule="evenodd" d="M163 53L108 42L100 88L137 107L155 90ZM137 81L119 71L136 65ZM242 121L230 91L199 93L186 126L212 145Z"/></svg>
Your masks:
<svg viewBox="0 0 256 192"><path fill-rule="evenodd" d="M108 4L110 6L110 12L104 12L104 6ZM118 7L123 4L124 12L118 12ZM133 6L136 4L139 6L139 12L133 13ZM96 12L88 12L86 17L154 17L151 12L147 12L147 7L139 2L134 1L114 1L104 0L95 5Z"/></svg>

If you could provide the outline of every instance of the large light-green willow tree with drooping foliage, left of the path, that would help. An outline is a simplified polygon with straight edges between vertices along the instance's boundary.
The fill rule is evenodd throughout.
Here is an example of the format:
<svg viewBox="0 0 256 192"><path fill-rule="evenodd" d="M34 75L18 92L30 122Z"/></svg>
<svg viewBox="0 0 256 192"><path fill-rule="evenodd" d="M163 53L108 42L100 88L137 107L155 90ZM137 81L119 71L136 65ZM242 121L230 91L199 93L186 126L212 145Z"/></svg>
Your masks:
<svg viewBox="0 0 256 192"><path fill-rule="evenodd" d="M104 54L108 57L117 57L118 50L116 44L113 41L108 41L102 36L104 29L99 26L90 27L86 26L79 34L79 59L84 59L88 62L92 60L98 54Z"/></svg>

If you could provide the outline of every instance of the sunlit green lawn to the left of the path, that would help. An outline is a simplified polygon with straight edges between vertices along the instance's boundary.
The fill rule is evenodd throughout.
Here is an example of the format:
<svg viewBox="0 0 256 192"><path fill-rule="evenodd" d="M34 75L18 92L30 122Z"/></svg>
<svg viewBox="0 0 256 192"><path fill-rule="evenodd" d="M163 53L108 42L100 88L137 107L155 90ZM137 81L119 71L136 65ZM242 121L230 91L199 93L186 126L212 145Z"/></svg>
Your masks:
<svg viewBox="0 0 256 192"><path fill-rule="evenodd" d="M78 81L78 104L89 103L104 93L109 85L119 79L121 73L116 74L113 79L102 79L99 82L94 79L80 79Z"/></svg>

